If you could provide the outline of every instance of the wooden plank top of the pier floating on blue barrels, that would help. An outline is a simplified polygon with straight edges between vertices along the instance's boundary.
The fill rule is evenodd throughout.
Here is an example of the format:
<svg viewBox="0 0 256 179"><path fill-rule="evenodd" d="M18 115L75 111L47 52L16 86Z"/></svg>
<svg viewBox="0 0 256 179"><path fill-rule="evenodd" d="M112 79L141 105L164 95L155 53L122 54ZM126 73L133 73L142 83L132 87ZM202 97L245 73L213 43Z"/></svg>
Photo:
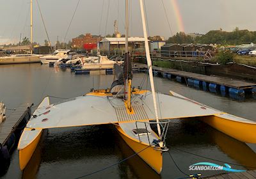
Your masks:
<svg viewBox="0 0 256 179"><path fill-rule="evenodd" d="M134 63L133 68L147 68L147 65L141 63ZM180 70L174 70L170 68L161 68L157 66L153 66L153 70L157 72L162 72L166 74L171 74L179 77L184 77L186 79L194 79L202 82L208 82L213 84L218 84L222 86L227 86L229 88L236 88L236 89L251 89L256 88L256 83L253 82L246 82L246 81L239 81L236 79L230 79L227 77L216 77L216 76L209 76L209 75L202 75L202 74L195 74L191 72L184 72Z"/></svg>

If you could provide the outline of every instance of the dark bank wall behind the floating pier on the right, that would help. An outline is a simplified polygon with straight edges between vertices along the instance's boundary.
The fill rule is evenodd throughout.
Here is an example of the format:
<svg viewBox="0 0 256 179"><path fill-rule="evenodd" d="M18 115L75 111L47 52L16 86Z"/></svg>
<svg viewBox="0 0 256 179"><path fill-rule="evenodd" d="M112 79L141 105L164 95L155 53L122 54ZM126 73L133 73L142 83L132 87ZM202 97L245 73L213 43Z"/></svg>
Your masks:
<svg viewBox="0 0 256 179"><path fill-rule="evenodd" d="M256 67L242 64L239 57L235 56L234 62L227 63L226 65L220 65L216 61L203 61L196 59L161 59L152 58L153 65L162 68L172 68L176 70L182 70L185 72L193 72L202 75L216 75L221 77L229 77L232 79L239 79L244 81L255 82L256 81ZM252 59L256 57L251 57ZM244 59L246 60L246 59ZM237 62L236 62L237 61ZM135 58L134 62L145 64L144 58Z"/></svg>

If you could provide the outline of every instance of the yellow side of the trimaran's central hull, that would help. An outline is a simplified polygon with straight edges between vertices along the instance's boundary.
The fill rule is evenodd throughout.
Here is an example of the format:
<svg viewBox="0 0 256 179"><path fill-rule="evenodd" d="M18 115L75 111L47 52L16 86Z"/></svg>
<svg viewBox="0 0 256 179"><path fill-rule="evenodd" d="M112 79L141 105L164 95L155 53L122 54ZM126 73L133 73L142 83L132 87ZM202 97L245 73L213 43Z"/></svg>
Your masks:
<svg viewBox="0 0 256 179"><path fill-rule="evenodd" d="M118 134L120 134L120 136L124 139L125 143L127 143L134 152L140 152L138 155L141 157L141 159L143 159L150 167L152 167L154 171L160 174L163 166L162 152L159 150L154 150L154 146L148 147L148 144L140 143L140 141L128 136L119 126L116 126L116 129L118 130ZM141 152L141 150L143 151Z"/></svg>

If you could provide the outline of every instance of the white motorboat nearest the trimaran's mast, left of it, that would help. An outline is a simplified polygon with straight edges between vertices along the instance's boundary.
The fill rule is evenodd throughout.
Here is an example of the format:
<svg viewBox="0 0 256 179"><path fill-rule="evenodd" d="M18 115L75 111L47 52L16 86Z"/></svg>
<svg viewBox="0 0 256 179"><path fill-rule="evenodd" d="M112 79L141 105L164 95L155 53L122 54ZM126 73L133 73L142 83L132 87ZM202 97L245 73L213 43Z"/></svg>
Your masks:
<svg viewBox="0 0 256 179"><path fill-rule="evenodd" d="M84 59L84 65L82 69L86 69L86 70L113 69L115 63L122 64L123 61L113 61L111 59L108 59L107 56L98 55L97 57L89 57Z"/></svg>

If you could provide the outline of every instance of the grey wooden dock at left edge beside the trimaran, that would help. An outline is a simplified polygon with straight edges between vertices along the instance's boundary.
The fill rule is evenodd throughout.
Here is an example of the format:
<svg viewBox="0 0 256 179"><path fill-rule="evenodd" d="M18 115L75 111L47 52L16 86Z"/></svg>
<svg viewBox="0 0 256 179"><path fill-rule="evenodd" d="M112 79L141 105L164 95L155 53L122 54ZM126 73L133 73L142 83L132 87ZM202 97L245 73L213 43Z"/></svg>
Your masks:
<svg viewBox="0 0 256 179"><path fill-rule="evenodd" d="M8 141L20 122L30 113L31 106L31 104L21 104L0 124L0 144L3 144L3 146L6 144L6 141Z"/></svg>

